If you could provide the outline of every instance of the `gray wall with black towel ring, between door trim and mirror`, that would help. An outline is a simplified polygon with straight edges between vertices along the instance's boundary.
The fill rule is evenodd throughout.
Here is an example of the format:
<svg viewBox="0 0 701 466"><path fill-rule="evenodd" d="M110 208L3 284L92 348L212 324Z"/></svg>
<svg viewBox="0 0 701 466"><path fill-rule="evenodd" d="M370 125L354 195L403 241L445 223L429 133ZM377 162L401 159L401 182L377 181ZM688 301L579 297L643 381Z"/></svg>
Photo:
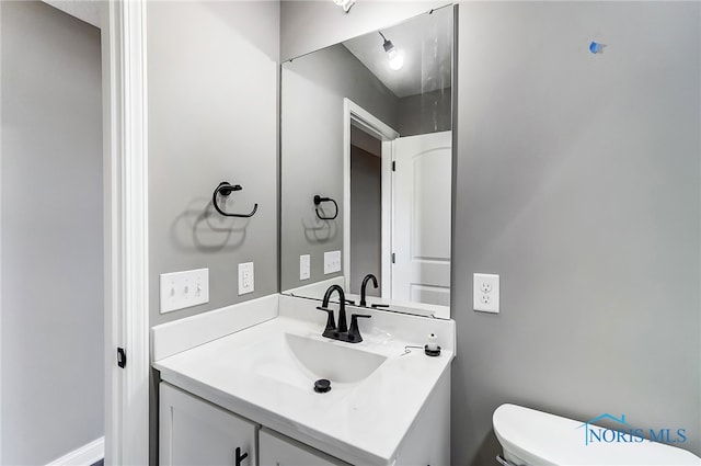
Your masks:
<svg viewBox="0 0 701 466"><path fill-rule="evenodd" d="M279 3L149 2L149 264L151 325L278 291ZM225 218L211 194L241 184ZM238 264L255 292L238 295ZM159 275L209 268L209 303L159 312Z"/></svg>

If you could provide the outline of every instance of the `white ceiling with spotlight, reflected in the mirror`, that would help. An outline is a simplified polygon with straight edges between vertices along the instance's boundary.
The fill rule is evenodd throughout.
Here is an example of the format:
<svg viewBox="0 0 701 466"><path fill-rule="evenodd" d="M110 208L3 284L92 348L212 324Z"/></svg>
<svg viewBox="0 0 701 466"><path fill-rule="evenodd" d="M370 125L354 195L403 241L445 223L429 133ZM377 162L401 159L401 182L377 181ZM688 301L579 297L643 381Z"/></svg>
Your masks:
<svg viewBox="0 0 701 466"><path fill-rule="evenodd" d="M350 13L353 14L353 10ZM343 43L398 98L450 87L452 8L434 10L401 24L381 30L384 37L404 53L404 66L392 70L379 33Z"/></svg>

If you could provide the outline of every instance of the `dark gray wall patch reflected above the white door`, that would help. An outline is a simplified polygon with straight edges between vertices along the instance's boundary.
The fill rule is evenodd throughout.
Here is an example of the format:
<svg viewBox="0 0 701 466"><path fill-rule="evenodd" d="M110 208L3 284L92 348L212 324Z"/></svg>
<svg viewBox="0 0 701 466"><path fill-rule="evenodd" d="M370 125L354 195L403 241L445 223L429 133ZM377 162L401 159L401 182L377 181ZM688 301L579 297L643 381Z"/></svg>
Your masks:
<svg viewBox="0 0 701 466"><path fill-rule="evenodd" d="M452 128L450 88L399 100L399 126L402 137L447 132Z"/></svg>

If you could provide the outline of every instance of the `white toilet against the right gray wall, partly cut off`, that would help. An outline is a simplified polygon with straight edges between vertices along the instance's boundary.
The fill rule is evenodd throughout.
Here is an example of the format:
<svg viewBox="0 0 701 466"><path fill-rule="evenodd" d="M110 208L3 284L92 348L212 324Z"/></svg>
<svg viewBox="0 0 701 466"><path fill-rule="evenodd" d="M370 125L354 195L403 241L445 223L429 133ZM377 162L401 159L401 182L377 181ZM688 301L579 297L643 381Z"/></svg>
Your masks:
<svg viewBox="0 0 701 466"><path fill-rule="evenodd" d="M625 418L604 416L625 422ZM504 456L497 456L497 462L505 466L701 465L701 458L682 448L640 436L623 435L616 441L613 435L618 433L613 430L602 431L595 423L516 405L499 406L492 422L504 450ZM606 435L587 436L587 429L596 429L595 432ZM600 442L597 441L599 437L602 439Z"/></svg>

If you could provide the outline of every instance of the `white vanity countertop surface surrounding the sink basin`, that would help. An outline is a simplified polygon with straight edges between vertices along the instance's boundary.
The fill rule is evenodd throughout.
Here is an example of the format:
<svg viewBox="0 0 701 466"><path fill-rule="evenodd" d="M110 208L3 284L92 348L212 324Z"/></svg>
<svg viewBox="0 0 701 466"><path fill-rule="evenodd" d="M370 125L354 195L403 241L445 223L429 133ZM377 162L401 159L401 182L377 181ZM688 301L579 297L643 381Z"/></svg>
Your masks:
<svg viewBox="0 0 701 466"><path fill-rule="evenodd" d="M281 306L272 320L164 357L153 367L172 385L343 461L392 464L453 357L455 322L363 309L360 314L374 318L363 319L364 341L352 344L321 337L325 316L314 309L318 303L294 303L297 309ZM348 322L354 311L358 309L348 308ZM426 356L423 350L404 354L405 345L423 345L416 336L436 326L446 339L440 356ZM397 330L402 328L409 330ZM446 336L450 330L452 336ZM336 383L331 391L317 394L313 379L283 348L286 333L380 354L387 361L358 384ZM289 361L280 366L279 354L285 353Z"/></svg>

